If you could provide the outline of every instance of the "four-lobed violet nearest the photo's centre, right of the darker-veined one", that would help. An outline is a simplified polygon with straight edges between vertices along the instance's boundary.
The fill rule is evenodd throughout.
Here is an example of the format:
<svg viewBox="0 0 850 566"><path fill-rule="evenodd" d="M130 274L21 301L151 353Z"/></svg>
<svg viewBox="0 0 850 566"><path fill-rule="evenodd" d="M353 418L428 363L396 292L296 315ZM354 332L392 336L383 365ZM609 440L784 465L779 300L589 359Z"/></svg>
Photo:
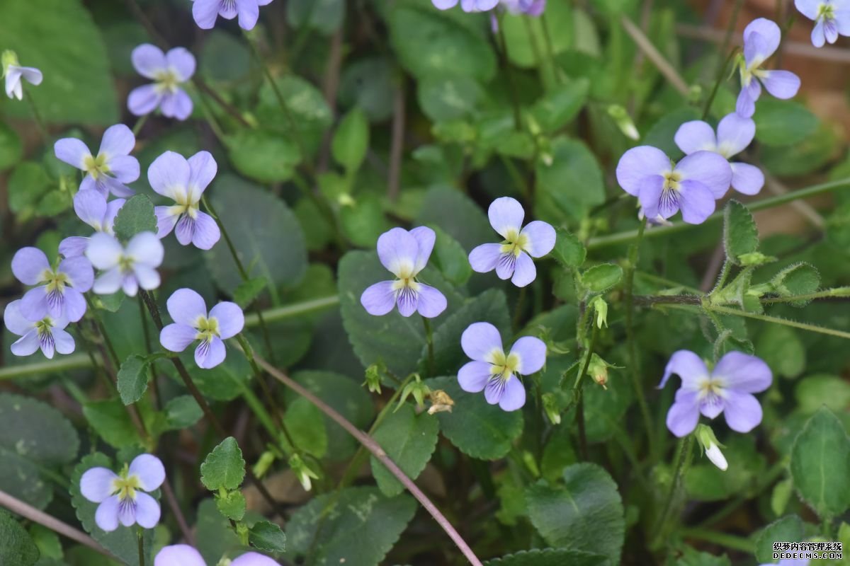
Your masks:
<svg viewBox="0 0 850 566"><path fill-rule="evenodd" d="M517 199L500 197L487 210L490 226L502 238L501 244L481 244L469 253L469 265L479 273L496 270L500 279L510 279L525 287L537 277L532 257L543 257L555 247L555 229L536 220L523 226L525 210Z"/></svg>

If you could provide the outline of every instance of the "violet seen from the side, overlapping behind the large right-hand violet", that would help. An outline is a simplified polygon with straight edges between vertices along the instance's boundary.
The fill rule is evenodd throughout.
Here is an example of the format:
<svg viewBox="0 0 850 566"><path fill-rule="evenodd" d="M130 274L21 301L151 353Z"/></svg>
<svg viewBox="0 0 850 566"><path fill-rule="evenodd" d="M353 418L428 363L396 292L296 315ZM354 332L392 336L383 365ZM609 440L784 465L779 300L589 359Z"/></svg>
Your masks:
<svg viewBox="0 0 850 566"><path fill-rule="evenodd" d="M717 124L717 136L714 130L702 120L685 122L676 132L676 145L685 154L698 151L713 151L727 160L744 151L756 136L756 122L743 118L736 113L724 116ZM743 194L757 194L764 186L764 174L755 165L731 162L732 188Z"/></svg>

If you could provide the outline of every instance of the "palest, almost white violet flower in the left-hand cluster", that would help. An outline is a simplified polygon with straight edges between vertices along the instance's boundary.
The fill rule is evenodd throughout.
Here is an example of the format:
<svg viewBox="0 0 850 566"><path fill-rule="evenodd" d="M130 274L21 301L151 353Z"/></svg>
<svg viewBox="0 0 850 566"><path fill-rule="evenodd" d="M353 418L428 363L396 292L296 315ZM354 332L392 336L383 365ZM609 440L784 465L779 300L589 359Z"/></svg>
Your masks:
<svg viewBox="0 0 850 566"><path fill-rule="evenodd" d="M127 248L110 234L99 232L88 241L86 257L101 270L92 290L97 294L113 294L124 289L134 297L139 287L150 291L160 284L156 267L162 263L165 250L156 234L138 233L127 242Z"/></svg>

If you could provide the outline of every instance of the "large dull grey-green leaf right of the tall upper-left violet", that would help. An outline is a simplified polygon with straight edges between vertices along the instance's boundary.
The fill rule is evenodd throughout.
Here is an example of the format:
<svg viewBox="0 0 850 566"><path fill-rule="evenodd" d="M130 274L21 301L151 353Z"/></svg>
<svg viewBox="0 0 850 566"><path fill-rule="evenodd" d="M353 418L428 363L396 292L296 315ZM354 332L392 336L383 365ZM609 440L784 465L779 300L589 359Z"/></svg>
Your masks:
<svg viewBox="0 0 850 566"><path fill-rule="evenodd" d="M219 177L213 190L215 210L221 213L224 229L249 277L265 277L273 297L277 287L296 285L307 269L307 249L301 227L286 203L229 175ZM205 257L220 289L229 293L239 287L242 279L227 246L217 245Z"/></svg>

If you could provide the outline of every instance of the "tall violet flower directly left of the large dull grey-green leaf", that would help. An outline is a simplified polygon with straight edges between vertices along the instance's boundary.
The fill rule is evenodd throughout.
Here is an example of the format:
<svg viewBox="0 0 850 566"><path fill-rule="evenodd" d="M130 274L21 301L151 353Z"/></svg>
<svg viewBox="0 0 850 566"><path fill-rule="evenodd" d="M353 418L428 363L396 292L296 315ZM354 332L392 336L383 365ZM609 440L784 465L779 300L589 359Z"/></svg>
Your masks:
<svg viewBox="0 0 850 566"><path fill-rule="evenodd" d="M218 242L221 238L218 224L212 216L198 210L201 195L217 170L208 151L199 151L189 160L167 151L150 164L150 187L174 201L171 206L155 209L157 238L165 238L174 230L177 241L183 245L195 244L197 248L210 249Z"/></svg>

